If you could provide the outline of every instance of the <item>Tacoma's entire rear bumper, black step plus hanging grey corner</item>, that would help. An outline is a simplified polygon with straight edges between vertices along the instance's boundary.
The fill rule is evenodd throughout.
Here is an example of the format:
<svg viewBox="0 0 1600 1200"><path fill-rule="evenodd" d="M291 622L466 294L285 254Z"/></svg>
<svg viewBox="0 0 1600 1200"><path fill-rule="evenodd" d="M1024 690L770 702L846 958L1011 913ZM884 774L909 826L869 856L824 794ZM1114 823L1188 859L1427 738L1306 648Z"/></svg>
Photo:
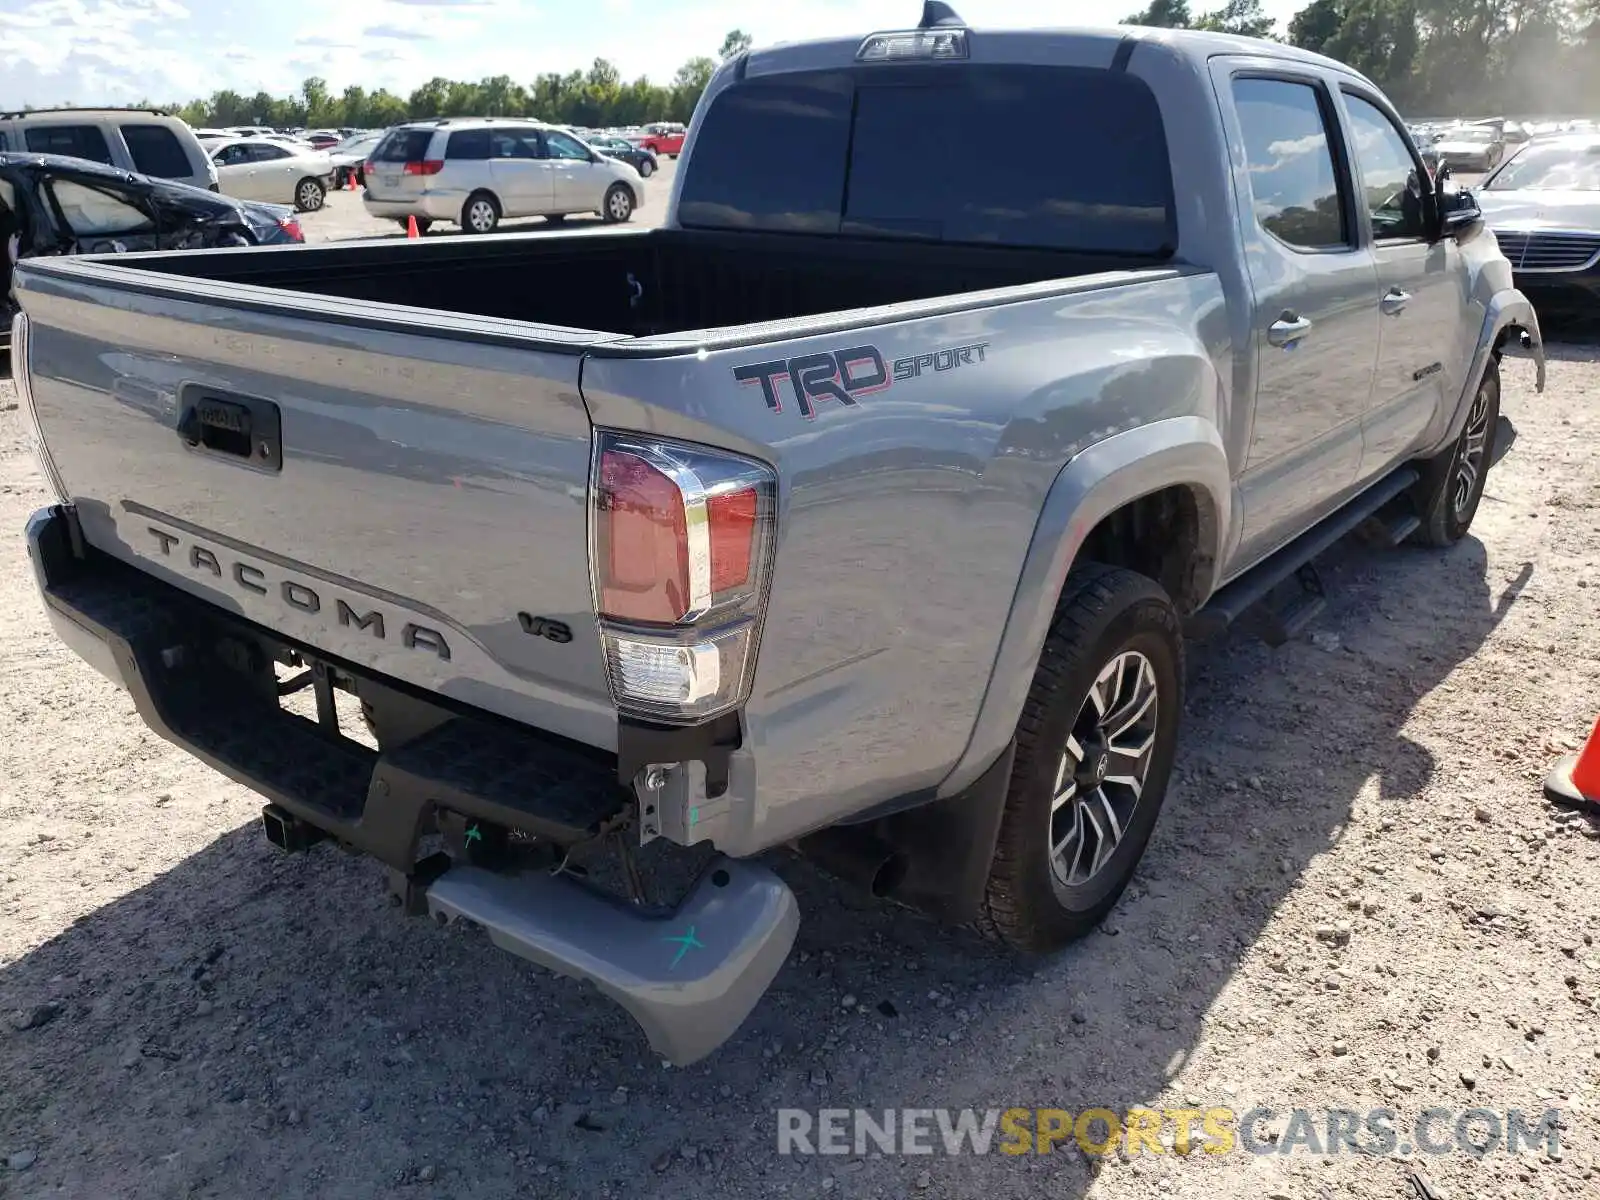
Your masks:
<svg viewBox="0 0 1600 1200"><path fill-rule="evenodd" d="M155 733L261 792L280 821L286 814L397 872L418 866L437 811L573 843L632 803L606 755L454 709L440 707L434 728L387 752L328 736L278 706L270 662L253 658L282 645L267 630L85 546L70 509L34 514L27 544L56 635L125 688ZM544 870L453 864L414 885L435 918L482 925L496 946L592 982L678 1064L733 1035L800 923L776 874L728 858L714 859L672 909Z"/></svg>

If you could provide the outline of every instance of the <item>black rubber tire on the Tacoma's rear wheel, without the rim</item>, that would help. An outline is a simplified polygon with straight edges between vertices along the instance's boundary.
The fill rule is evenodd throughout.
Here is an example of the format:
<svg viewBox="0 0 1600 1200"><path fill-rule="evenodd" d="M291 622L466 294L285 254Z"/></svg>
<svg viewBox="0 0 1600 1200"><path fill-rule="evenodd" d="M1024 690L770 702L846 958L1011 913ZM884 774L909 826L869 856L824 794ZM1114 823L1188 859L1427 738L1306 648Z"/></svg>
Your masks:
<svg viewBox="0 0 1600 1200"><path fill-rule="evenodd" d="M1154 726L1149 749L1139 755L1147 760L1144 787L1133 800L1115 850L1086 880L1070 885L1053 864L1058 771L1069 736L1088 715L1085 704L1096 677L1128 651L1142 654L1155 678ZM1154 579L1120 566L1075 568L1018 722L1010 792L978 918L981 933L1018 950L1048 952L1090 933L1110 912L1144 856L1166 797L1182 686L1182 621L1166 592ZM1104 766L1098 781L1112 782ZM1062 806L1066 818L1072 816L1067 811L1072 805Z"/></svg>

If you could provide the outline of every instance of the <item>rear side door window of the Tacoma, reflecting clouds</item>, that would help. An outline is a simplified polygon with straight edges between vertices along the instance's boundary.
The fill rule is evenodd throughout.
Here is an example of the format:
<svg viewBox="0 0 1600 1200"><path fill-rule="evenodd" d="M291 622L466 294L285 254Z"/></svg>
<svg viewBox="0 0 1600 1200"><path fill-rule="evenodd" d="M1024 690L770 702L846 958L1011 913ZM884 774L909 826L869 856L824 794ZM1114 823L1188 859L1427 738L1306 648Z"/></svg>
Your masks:
<svg viewBox="0 0 1600 1200"><path fill-rule="evenodd" d="M1245 163L1261 227L1291 246L1350 242L1318 90L1269 78L1234 80Z"/></svg>

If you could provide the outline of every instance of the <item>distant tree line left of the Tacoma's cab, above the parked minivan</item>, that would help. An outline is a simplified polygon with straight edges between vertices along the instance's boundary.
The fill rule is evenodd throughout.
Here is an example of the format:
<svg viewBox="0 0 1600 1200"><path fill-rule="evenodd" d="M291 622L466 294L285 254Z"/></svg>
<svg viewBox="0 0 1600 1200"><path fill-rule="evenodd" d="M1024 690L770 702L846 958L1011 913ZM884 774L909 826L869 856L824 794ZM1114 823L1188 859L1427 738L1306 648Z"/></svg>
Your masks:
<svg viewBox="0 0 1600 1200"><path fill-rule="evenodd" d="M382 130L429 117L539 117L578 126L686 122L718 61L749 46L750 35L734 29L723 38L717 58L691 58L666 85L645 77L624 82L614 64L597 58L589 70L566 75L549 72L526 85L510 75L493 75L477 83L438 77L408 96L397 96L386 88L366 91L355 85L336 94L326 80L309 78L296 96L216 91L208 99L168 107L195 128L270 125L278 130Z"/></svg>

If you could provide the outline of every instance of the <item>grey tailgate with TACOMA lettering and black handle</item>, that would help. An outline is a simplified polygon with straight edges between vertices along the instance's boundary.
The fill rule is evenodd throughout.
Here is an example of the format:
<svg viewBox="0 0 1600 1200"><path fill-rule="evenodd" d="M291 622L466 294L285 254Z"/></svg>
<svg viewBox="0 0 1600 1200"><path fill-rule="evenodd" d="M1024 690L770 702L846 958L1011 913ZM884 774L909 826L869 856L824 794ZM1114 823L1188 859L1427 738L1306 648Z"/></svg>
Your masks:
<svg viewBox="0 0 1600 1200"><path fill-rule="evenodd" d="M330 656L614 749L578 344L133 275L50 264L21 291L88 542Z"/></svg>

